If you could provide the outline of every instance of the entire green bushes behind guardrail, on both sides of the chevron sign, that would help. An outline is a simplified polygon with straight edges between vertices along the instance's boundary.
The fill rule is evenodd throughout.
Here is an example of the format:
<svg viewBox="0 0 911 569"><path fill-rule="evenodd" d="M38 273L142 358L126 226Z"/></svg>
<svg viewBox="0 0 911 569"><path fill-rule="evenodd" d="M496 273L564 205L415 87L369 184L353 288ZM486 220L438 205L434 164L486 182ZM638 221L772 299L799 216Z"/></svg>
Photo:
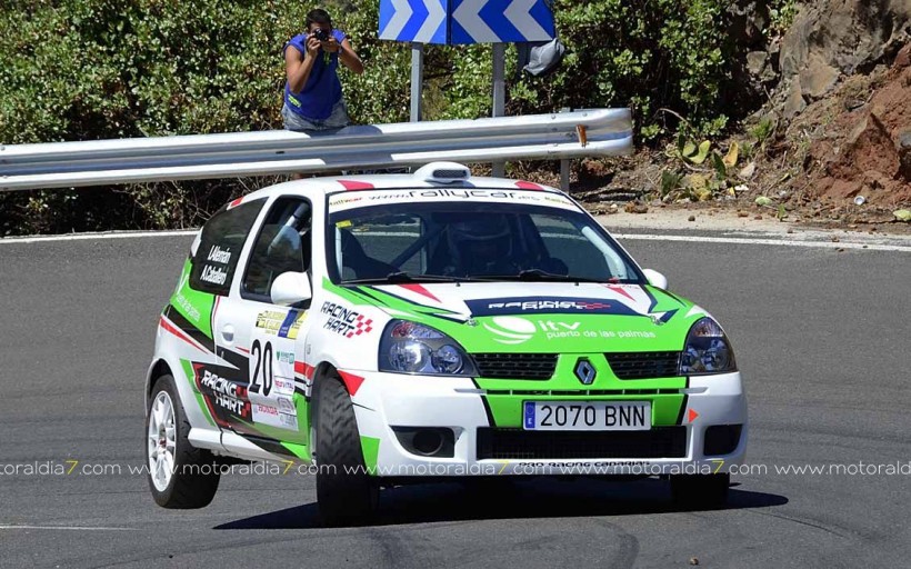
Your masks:
<svg viewBox="0 0 911 569"><path fill-rule="evenodd" d="M762 2L760 2L762 3ZM773 0L784 14L793 0ZM317 4L313 4L317 6ZM0 143L281 128L281 48L310 4L288 0L6 0L0 7ZM408 46L377 39L379 0L324 6L364 60L343 73L352 119L409 116ZM555 0L569 52L547 78L508 56L508 113L631 106L645 140L729 119L733 50L722 0ZM779 13L779 12L775 12ZM424 117L490 114L490 46L427 48ZM263 180L0 194L0 233L190 227Z"/></svg>

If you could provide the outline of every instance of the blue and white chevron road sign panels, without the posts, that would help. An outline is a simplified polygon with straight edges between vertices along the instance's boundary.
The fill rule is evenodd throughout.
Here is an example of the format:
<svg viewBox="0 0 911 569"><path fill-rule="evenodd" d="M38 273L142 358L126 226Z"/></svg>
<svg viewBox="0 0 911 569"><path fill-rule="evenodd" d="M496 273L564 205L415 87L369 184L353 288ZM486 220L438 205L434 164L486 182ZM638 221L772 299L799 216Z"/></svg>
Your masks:
<svg viewBox="0 0 911 569"><path fill-rule="evenodd" d="M381 0L380 39L419 43L547 41L547 0Z"/></svg>

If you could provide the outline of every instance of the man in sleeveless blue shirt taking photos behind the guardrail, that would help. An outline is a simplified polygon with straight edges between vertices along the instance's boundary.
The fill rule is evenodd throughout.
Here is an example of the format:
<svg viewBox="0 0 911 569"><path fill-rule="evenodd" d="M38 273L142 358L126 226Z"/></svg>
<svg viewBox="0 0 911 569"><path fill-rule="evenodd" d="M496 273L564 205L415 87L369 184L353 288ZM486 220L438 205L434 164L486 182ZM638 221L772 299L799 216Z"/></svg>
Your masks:
<svg viewBox="0 0 911 569"><path fill-rule="evenodd" d="M348 109L339 81L339 61L356 73L363 63L348 37L332 28L322 9L307 14L306 31L284 44L284 104L281 118L288 130L326 130L348 126Z"/></svg>

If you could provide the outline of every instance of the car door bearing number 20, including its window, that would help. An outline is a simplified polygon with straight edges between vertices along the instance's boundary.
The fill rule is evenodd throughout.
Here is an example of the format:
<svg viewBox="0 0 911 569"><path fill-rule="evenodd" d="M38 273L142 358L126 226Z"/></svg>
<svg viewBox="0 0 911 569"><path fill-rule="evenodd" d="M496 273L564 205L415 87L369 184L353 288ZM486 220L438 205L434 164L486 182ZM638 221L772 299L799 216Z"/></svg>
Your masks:
<svg viewBox="0 0 911 569"><path fill-rule="evenodd" d="M309 436L300 363L309 301L278 306L270 293L279 274L309 270L311 213L310 201L297 196L280 196L268 206L214 318L217 342L226 356L234 355L248 379L249 407L232 416L228 428L267 450L286 448L278 442L307 445Z"/></svg>

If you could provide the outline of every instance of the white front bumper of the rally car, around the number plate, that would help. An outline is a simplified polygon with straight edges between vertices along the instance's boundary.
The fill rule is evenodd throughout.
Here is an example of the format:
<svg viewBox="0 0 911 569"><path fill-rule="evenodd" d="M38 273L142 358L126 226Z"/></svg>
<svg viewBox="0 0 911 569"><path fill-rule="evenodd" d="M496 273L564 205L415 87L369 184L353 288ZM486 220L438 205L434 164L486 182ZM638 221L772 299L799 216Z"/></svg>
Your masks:
<svg viewBox="0 0 911 569"><path fill-rule="evenodd" d="M352 371L352 373L354 373ZM538 431L522 431L521 423L507 420L503 417L511 415L500 413L499 420L491 412L488 390L480 389L471 378L439 378L422 376L400 376L394 373L358 372L364 380L352 397L354 410L364 449L364 459L371 472L381 477L461 477L461 476L657 476L675 473L713 473L730 471L731 467L743 462L745 456L748 426L747 403L743 395L739 372L710 377L693 377L685 388L677 390L674 395L667 392L654 397L675 397L679 412L673 422L665 417L658 418L653 411L653 427L651 431L660 433L674 431L675 451L669 456L655 455L653 439L632 438L633 431L602 431L595 439L612 448L605 456L597 456L591 451L580 452L580 456L567 456L567 449L561 448L561 439L549 440L548 445L530 445L521 448L529 437ZM634 387L634 386L630 386ZM635 391L633 389L633 391ZM665 390L662 390L665 391ZM515 406L522 400L539 399L539 396L514 395ZM610 397L603 395L567 396L561 392L559 399L587 400L637 400L650 399L652 396ZM653 400L654 401L654 400ZM502 406L502 401L500 402ZM662 406L652 405L653 410L662 407L667 409L668 401ZM517 413L518 415L518 413ZM710 427L719 430L735 432L730 445L722 445L725 452L721 455L705 453L707 431ZM740 426L738 430L735 426ZM414 429L451 430L452 445L448 445L446 456L422 456L409 449L401 440L401 431ZM399 431L399 435L397 435ZM514 449L503 452L503 446L491 452L490 432L509 431L508 445L515 445ZM573 433L570 433L572 436ZM589 435L587 435L589 436ZM663 435L662 435L663 437ZM682 440L681 440L682 438ZM730 438L730 437L729 437ZM634 449L629 456L620 456L614 441L623 441L620 448ZM639 449L635 441L648 445L649 449ZM632 441L632 442L630 442ZM580 445L582 447L580 447ZM573 441L573 448L584 448L584 440ZM631 446L632 445L632 446ZM717 440L709 443L709 449L718 449ZM553 450L548 450L553 449ZM560 450L557 450L560 449ZM732 450L731 450L732 449ZM498 456L497 452L500 452ZM551 456L549 456L551 452Z"/></svg>

